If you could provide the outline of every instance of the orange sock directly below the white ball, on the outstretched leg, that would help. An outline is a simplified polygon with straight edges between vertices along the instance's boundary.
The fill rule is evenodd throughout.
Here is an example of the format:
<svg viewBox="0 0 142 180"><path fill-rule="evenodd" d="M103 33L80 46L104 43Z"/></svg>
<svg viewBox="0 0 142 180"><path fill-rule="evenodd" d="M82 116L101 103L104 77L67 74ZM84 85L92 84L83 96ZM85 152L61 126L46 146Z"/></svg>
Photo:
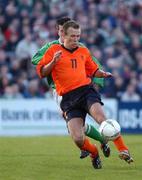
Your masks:
<svg viewBox="0 0 142 180"><path fill-rule="evenodd" d="M121 135L117 139L115 139L113 142L116 148L118 149L118 151L128 150L128 147L125 145L124 140Z"/></svg>

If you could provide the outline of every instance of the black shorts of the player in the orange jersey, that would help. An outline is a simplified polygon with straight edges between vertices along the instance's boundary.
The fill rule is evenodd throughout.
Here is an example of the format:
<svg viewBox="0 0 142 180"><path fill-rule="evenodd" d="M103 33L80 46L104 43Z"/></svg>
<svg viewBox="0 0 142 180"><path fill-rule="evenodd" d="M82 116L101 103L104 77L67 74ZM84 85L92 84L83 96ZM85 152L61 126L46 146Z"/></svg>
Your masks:
<svg viewBox="0 0 142 180"><path fill-rule="evenodd" d="M63 95L60 107L66 122L72 118L82 118L85 122L86 114L89 114L91 105L96 102L103 105L100 94L92 85L86 85Z"/></svg>

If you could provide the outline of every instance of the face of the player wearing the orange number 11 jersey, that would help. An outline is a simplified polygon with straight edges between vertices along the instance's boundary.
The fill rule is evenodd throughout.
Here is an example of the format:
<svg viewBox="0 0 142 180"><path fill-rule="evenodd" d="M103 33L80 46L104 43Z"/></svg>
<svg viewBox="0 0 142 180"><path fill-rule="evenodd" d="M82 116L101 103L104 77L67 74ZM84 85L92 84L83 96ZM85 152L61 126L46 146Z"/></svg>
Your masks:
<svg viewBox="0 0 142 180"><path fill-rule="evenodd" d="M67 33L63 35L64 46L68 49L74 49L78 47L78 41L80 39L81 29L68 28Z"/></svg>

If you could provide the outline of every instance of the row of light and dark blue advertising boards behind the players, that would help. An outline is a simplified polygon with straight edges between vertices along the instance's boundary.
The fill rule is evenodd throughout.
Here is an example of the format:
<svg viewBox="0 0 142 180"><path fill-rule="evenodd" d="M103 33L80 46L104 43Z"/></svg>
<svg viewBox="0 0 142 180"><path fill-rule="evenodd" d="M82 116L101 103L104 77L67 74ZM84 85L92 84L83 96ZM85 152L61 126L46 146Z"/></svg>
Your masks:
<svg viewBox="0 0 142 180"><path fill-rule="evenodd" d="M124 103L116 99L103 102L107 118L117 120L122 133L142 134L142 102ZM90 117L86 123L99 127ZM67 134L66 123L53 99L1 100L0 136Z"/></svg>

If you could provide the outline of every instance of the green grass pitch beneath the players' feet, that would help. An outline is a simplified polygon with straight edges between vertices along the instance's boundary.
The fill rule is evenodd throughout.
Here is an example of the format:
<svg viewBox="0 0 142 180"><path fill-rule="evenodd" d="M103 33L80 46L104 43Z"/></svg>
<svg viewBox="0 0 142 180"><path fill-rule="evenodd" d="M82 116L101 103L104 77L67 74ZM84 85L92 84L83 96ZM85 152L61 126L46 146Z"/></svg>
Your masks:
<svg viewBox="0 0 142 180"><path fill-rule="evenodd" d="M101 152L103 169L95 170L68 136L0 138L0 180L141 180L142 135L124 139L135 162L120 160L111 142L111 157Z"/></svg>

